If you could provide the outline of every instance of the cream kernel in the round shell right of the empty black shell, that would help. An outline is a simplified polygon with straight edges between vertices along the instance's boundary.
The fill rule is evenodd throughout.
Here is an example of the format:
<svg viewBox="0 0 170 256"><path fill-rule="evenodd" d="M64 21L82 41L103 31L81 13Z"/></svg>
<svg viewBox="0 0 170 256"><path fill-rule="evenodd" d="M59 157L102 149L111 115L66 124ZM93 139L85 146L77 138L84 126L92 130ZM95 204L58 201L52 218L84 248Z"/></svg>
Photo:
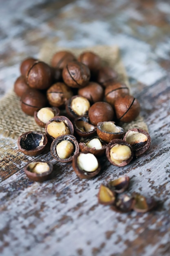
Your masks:
<svg viewBox="0 0 170 256"><path fill-rule="evenodd" d="M56 146L57 155L61 159L66 159L70 157L71 154L73 153L73 150L74 150L74 146L71 143L71 141L68 141L68 140L63 140Z"/></svg>

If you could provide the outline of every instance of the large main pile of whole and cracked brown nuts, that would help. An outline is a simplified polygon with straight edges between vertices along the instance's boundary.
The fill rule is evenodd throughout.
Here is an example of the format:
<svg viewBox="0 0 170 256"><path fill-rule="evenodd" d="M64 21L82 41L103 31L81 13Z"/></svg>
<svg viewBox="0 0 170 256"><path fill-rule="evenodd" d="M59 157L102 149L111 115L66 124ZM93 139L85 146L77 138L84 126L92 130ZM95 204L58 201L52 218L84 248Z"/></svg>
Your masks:
<svg viewBox="0 0 170 256"><path fill-rule="evenodd" d="M140 128L124 132L119 122L131 122L140 104L129 94L111 67L103 66L94 52L76 59L68 51L56 52L51 66L34 58L20 65L21 76L14 91L21 108L44 133L25 132L18 138L24 154L38 155L51 144L51 155L59 162L72 162L80 178L96 176L104 155L115 166L125 166L148 150L150 136ZM29 179L43 181L52 172L49 162L34 161L24 168Z"/></svg>

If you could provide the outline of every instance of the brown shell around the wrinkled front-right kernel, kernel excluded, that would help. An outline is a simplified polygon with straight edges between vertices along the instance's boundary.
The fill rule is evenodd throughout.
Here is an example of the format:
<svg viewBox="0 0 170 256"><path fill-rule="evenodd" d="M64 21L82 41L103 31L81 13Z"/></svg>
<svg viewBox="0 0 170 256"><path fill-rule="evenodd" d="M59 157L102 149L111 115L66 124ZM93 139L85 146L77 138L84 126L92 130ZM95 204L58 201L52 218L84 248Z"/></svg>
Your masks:
<svg viewBox="0 0 170 256"><path fill-rule="evenodd" d="M121 164L115 164L115 163L111 160L111 158L110 158L110 149L111 149L113 146L117 145L117 144L126 145L126 146L128 146L128 147L130 148L130 151L131 151L131 156L129 157L129 159L127 159L127 160L121 162ZM132 147L130 146L130 144L128 144L128 143L127 143L126 141L124 141L123 139L113 139L113 140L111 140L111 141L108 143L108 146L107 146L107 148L106 148L106 157L107 157L108 161L109 161L111 164L115 165L115 166L125 166L125 165L129 164L130 161L132 160L132 158L133 158L133 150L132 150Z"/></svg>

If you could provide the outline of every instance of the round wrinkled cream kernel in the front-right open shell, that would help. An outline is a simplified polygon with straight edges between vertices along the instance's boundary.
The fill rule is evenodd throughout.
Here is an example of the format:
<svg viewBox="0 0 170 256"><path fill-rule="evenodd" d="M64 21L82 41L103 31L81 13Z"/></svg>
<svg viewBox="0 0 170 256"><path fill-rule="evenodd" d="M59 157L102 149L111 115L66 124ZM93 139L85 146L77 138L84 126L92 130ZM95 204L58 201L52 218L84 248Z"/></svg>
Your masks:
<svg viewBox="0 0 170 256"><path fill-rule="evenodd" d="M110 159L115 164L121 164L131 156L131 150L126 145L117 144L110 149Z"/></svg>

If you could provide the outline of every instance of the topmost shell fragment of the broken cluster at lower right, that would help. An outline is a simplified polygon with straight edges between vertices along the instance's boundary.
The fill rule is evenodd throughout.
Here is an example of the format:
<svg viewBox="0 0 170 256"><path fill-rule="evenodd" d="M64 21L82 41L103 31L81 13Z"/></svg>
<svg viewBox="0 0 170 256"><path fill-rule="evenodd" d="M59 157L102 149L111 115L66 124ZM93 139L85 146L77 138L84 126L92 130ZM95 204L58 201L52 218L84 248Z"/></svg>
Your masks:
<svg viewBox="0 0 170 256"><path fill-rule="evenodd" d="M107 186L116 193L123 193L129 186L130 178L128 176L119 177L118 179L108 182Z"/></svg>

